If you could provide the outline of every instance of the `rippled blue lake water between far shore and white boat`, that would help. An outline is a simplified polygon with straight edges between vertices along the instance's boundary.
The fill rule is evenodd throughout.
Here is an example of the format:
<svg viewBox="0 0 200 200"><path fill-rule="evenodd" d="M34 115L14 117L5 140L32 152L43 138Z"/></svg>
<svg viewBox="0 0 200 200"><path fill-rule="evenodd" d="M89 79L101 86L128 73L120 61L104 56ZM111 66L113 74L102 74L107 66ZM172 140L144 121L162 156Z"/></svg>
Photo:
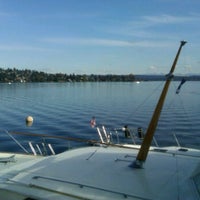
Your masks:
<svg viewBox="0 0 200 200"><path fill-rule="evenodd" d="M155 108L163 82L116 83L16 83L0 84L0 150L18 150L6 131L98 139L90 119L108 129L142 127L145 130ZM159 145L200 146L200 84L186 82L175 94L179 82L172 82L155 134ZM28 127L25 118L34 118ZM13 135L26 146L30 139ZM73 143L51 141L56 151ZM75 144L78 146L79 144ZM80 144L85 145L85 144Z"/></svg>

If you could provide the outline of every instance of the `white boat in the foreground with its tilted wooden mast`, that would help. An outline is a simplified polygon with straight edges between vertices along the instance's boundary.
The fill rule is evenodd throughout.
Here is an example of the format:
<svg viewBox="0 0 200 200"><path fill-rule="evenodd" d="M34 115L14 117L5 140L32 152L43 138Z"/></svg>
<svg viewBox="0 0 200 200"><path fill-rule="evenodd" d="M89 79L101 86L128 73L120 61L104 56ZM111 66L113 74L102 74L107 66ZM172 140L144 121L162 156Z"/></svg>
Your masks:
<svg viewBox="0 0 200 200"><path fill-rule="evenodd" d="M90 141L93 146L57 155L52 151L51 156L38 156L36 152L35 155L0 152L1 200L199 200L200 150L151 146L185 43L181 41L140 145L115 144L105 127L97 127L100 141ZM8 134L12 137L23 133Z"/></svg>

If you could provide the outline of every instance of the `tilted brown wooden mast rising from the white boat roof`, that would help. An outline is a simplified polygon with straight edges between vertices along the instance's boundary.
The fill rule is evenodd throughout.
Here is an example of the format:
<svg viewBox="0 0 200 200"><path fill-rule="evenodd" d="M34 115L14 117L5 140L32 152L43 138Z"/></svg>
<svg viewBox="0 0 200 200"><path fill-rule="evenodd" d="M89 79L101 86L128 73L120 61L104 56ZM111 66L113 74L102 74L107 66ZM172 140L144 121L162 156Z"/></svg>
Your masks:
<svg viewBox="0 0 200 200"><path fill-rule="evenodd" d="M149 148L150 148L150 145L151 145L157 124L158 124L160 113L162 111L162 107L163 107L163 104L164 104L164 101L165 101L165 97L166 97L170 82L173 78L173 72L175 70L176 63L178 61L181 49L182 49L182 47L184 46L185 43L186 43L186 41L181 41L180 47L179 47L178 52L176 54L176 57L174 59L171 70L170 70L169 74L166 75L166 82L165 82L163 91L160 95L159 101L158 101L157 106L156 106L154 113L152 115L151 121L149 123L149 127L147 129L144 140L143 140L142 145L140 147L140 150L138 152L136 161L133 163L133 166L136 167L136 168L142 168L143 163L145 162L145 160L147 158L148 151L149 151Z"/></svg>

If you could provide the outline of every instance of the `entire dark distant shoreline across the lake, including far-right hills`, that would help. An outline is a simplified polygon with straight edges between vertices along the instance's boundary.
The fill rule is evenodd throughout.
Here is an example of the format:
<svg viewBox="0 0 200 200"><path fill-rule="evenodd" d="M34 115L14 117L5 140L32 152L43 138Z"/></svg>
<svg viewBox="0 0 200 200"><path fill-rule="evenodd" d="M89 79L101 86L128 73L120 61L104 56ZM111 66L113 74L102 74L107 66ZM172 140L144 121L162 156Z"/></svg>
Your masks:
<svg viewBox="0 0 200 200"><path fill-rule="evenodd" d="M177 75L173 80L180 81L200 81L200 75ZM116 75L116 74L64 74L64 73L46 73L35 70L18 70L0 68L1 83L24 83L24 82L141 82L141 81L164 81L165 75Z"/></svg>

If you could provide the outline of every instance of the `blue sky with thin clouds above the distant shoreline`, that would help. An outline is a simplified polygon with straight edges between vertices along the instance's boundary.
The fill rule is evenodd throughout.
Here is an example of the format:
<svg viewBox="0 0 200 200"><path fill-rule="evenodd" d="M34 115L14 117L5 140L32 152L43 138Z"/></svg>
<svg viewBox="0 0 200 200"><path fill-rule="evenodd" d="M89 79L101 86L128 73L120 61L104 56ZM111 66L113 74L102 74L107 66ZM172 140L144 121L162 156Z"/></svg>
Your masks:
<svg viewBox="0 0 200 200"><path fill-rule="evenodd" d="M200 74L199 0L0 0L0 67Z"/></svg>

